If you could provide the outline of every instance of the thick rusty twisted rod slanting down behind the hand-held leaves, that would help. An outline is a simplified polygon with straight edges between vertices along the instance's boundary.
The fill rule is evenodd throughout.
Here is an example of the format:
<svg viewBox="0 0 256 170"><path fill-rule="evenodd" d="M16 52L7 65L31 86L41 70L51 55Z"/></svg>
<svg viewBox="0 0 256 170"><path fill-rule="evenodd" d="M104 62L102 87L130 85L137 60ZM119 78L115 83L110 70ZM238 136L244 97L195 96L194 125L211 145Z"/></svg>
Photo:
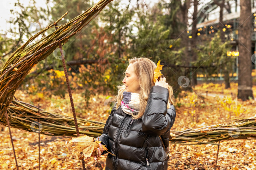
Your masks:
<svg viewBox="0 0 256 170"><path fill-rule="evenodd" d="M55 24L55 29L57 30L57 24ZM79 130L78 130L78 125L77 125L77 120L76 120L76 111L75 111L75 107L74 107L74 102L73 102L73 98L72 98L72 93L70 90L70 83L69 83L69 76L68 76L68 72L67 72L67 68L66 68L66 63L65 63L65 59L64 59L64 54L63 54L63 49L62 49L62 45L61 42L58 42L59 45L59 49L60 49L60 54L61 54L61 60L62 60L62 64L63 64L63 68L64 68L64 73L65 73L65 77L66 77L66 83L67 83L67 87L68 87L68 91L69 91L69 99L70 99L70 104L71 104L71 108L72 108L72 113L73 113L73 117L74 117L74 121L75 121L75 127L76 127L76 135L77 137L80 136L79 134ZM84 160L82 159L82 167L83 170L85 170L85 165L84 165Z"/></svg>

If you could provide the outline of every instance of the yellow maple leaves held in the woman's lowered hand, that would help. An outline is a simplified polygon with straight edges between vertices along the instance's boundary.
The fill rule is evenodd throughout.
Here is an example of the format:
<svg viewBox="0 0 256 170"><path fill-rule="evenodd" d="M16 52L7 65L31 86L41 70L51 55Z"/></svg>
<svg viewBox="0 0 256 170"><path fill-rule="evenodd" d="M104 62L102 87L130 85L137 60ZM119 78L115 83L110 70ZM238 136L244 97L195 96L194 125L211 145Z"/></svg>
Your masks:
<svg viewBox="0 0 256 170"><path fill-rule="evenodd" d="M79 136L75 138L72 137L72 139L69 141L69 144L72 142L77 143L76 146L73 147L72 153L75 153L78 156L79 160L83 158L98 156L97 148L100 147L99 143L101 143L101 141L97 141L97 140L94 141L93 139L95 138L89 137L87 135ZM105 145L102 145L102 147L103 147L103 150L107 151L107 147Z"/></svg>

